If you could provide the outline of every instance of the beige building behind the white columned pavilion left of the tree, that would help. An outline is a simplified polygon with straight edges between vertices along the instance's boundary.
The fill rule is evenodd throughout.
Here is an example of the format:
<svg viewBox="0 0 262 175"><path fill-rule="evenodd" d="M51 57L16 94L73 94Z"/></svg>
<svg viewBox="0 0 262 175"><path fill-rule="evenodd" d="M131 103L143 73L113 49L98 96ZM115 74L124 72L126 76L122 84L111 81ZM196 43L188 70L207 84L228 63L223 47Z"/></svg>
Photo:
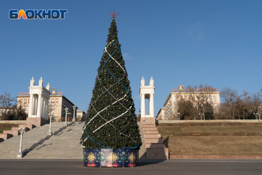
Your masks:
<svg viewBox="0 0 262 175"><path fill-rule="evenodd" d="M61 117L65 117L65 108L68 107L69 111L71 113L70 116L68 117L73 117L74 109L73 106L74 104L68 100L65 96L63 96L63 92L56 92L54 88L52 88L53 91L51 92L52 94L50 95L49 99L49 111L53 113L53 117L55 121L60 121ZM29 112L29 104L30 104L30 95L29 92L19 92L17 97L17 104L21 105L26 109L26 113L28 114ZM77 107L76 107L77 109ZM77 110L75 110L75 116L77 115Z"/></svg>

